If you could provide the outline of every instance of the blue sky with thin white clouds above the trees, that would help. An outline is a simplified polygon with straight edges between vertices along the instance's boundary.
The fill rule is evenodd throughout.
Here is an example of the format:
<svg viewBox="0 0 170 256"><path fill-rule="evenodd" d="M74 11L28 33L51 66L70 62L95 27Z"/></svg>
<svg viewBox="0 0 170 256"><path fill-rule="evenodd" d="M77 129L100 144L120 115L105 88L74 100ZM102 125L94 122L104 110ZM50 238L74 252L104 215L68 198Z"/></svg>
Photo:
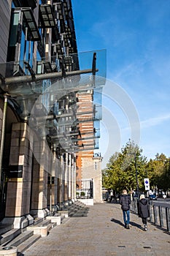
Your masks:
<svg viewBox="0 0 170 256"><path fill-rule="evenodd" d="M170 157L170 1L72 0L72 6L78 51L107 50L102 167L133 138L138 121L134 137L144 156Z"/></svg>

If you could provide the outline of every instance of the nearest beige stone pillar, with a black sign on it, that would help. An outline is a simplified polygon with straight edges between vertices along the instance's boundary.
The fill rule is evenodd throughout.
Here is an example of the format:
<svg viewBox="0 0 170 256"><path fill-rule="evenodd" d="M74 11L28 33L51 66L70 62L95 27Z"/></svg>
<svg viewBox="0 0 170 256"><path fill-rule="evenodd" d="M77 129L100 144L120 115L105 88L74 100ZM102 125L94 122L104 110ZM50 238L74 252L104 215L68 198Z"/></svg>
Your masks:
<svg viewBox="0 0 170 256"><path fill-rule="evenodd" d="M5 217L8 220L11 219L15 227L20 227L23 216L29 214L31 163L32 152L28 140L28 125L26 123L12 124Z"/></svg>

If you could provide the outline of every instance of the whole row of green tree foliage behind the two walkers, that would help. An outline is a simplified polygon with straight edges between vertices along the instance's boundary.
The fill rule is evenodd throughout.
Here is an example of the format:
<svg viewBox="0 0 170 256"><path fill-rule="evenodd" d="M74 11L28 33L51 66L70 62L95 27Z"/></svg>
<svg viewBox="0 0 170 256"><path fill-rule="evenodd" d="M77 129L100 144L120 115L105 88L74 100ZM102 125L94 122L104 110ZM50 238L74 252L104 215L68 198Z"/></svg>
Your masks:
<svg viewBox="0 0 170 256"><path fill-rule="evenodd" d="M150 179L150 188L170 188L170 159L164 154L156 154L155 159L147 161L142 148L128 140L120 152L110 157L103 170L103 186L120 192L123 188L135 190L137 184L144 191L144 178Z"/></svg>

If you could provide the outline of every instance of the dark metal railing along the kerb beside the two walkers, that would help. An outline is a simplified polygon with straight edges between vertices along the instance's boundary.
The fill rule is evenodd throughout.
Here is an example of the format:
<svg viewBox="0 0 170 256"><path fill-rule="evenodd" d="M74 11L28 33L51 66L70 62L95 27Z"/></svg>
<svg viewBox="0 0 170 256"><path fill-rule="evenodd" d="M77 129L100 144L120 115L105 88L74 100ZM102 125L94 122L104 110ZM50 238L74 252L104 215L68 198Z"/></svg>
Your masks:
<svg viewBox="0 0 170 256"><path fill-rule="evenodd" d="M152 201L149 201L149 209L149 221L153 225L170 232L170 208L165 206L156 206ZM131 202L131 211L138 214L138 200L136 198Z"/></svg>

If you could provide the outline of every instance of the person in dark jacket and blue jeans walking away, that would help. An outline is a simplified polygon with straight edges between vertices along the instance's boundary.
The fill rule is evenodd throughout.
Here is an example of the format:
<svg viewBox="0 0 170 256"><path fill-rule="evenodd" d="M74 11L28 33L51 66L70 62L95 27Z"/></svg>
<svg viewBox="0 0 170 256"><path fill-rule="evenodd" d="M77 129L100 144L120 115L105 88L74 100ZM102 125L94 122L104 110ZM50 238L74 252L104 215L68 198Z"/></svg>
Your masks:
<svg viewBox="0 0 170 256"><path fill-rule="evenodd" d="M125 228L129 229L131 198L127 194L126 189L123 189L122 195L120 196L120 205L123 211L123 221L125 223Z"/></svg>

